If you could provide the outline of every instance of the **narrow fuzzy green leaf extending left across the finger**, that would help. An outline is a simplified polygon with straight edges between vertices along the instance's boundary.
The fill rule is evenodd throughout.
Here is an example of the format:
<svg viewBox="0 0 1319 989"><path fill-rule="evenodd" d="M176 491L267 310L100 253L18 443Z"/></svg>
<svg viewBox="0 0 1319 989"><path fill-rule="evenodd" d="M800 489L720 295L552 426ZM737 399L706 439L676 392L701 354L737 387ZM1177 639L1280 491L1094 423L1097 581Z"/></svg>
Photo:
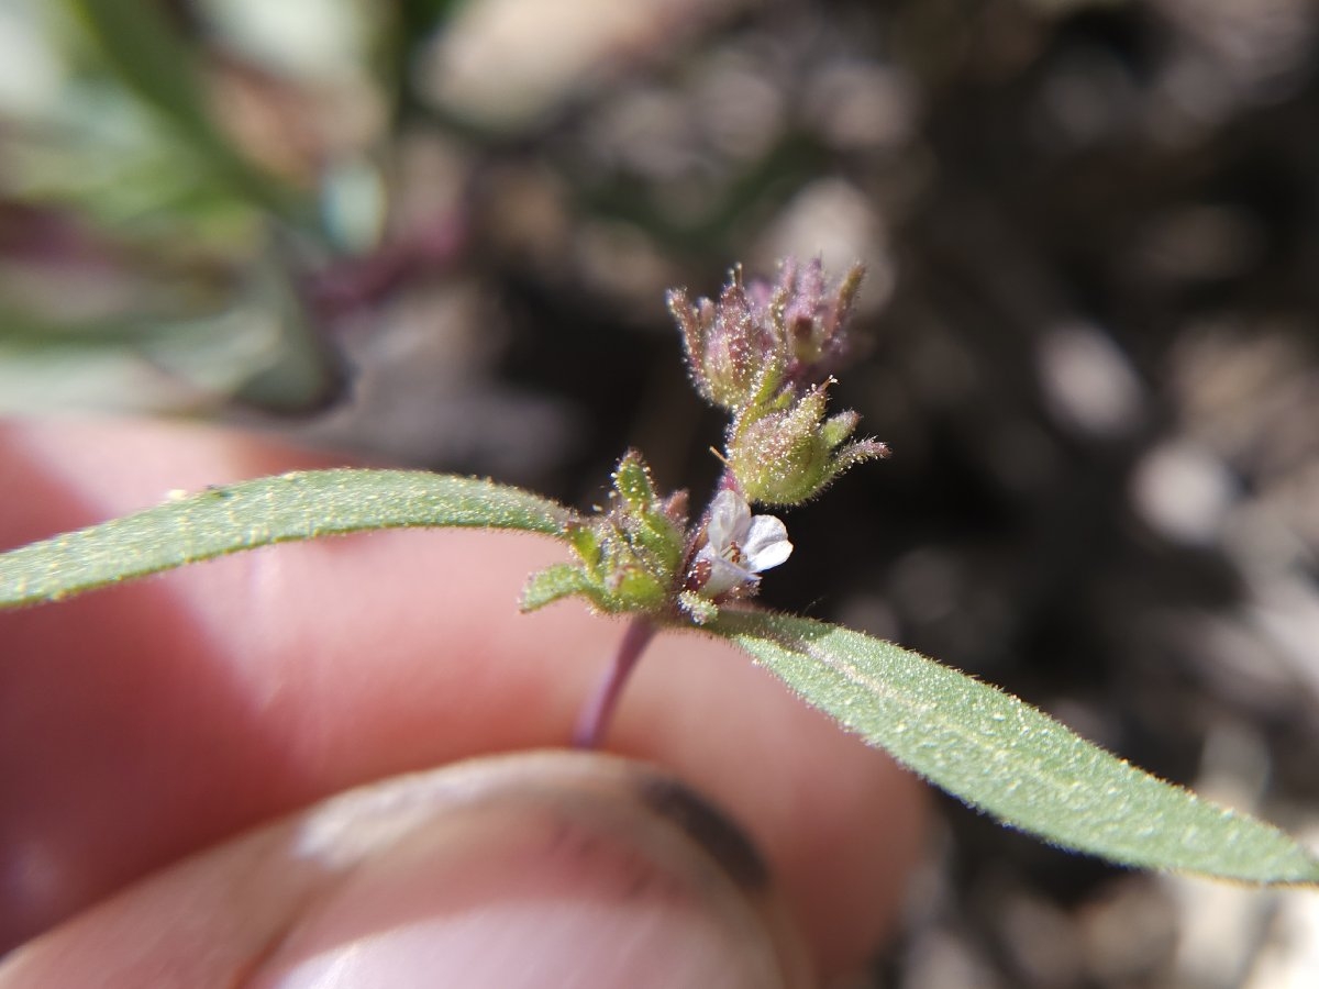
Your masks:
<svg viewBox="0 0 1319 989"><path fill-rule="evenodd" d="M0 608L66 597L277 542L367 529L466 526L563 535L561 505L422 471L298 471L208 488L0 555Z"/></svg>

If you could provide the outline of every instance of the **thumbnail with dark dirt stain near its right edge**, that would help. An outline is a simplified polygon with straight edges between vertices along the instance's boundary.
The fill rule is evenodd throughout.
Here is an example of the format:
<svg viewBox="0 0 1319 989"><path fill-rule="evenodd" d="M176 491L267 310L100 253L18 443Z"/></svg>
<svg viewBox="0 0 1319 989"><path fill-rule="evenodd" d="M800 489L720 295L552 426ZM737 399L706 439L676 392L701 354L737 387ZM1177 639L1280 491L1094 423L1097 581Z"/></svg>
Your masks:
<svg viewBox="0 0 1319 989"><path fill-rule="evenodd" d="M249 985L805 986L762 860L681 783L533 753L348 795L298 854L340 870Z"/></svg>

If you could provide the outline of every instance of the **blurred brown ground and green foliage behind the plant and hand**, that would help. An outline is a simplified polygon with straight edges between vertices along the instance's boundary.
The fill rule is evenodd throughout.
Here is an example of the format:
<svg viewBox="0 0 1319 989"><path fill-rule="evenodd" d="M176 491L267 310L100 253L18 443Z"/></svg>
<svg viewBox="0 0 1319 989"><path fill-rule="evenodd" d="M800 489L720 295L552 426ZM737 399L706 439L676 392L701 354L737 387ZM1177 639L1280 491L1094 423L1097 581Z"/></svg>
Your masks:
<svg viewBox="0 0 1319 989"><path fill-rule="evenodd" d="M1314 837L1316 54L1308 0L0 0L0 411L700 497L663 290L863 258L894 458L770 601ZM944 811L880 985L1319 978L1312 895Z"/></svg>

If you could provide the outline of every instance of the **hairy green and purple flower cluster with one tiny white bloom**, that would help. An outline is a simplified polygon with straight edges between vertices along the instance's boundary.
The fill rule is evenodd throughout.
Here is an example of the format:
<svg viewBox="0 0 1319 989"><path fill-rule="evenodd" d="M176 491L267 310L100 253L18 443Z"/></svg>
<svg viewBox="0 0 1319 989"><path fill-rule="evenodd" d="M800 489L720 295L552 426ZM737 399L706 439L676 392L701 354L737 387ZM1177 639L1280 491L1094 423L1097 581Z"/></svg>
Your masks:
<svg viewBox="0 0 1319 989"><path fill-rule="evenodd" d="M860 282L860 266L830 289L818 260L785 261L772 285L748 285L735 268L719 302L669 293L696 389L732 414L719 492L689 526L686 492L661 498L629 451L608 510L570 530L576 562L533 575L524 608L580 595L605 612L702 625L720 605L754 595L760 574L793 545L783 522L752 514L752 504L799 504L853 464L888 456L882 443L851 439L855 411L826 410Z"/></svg>

